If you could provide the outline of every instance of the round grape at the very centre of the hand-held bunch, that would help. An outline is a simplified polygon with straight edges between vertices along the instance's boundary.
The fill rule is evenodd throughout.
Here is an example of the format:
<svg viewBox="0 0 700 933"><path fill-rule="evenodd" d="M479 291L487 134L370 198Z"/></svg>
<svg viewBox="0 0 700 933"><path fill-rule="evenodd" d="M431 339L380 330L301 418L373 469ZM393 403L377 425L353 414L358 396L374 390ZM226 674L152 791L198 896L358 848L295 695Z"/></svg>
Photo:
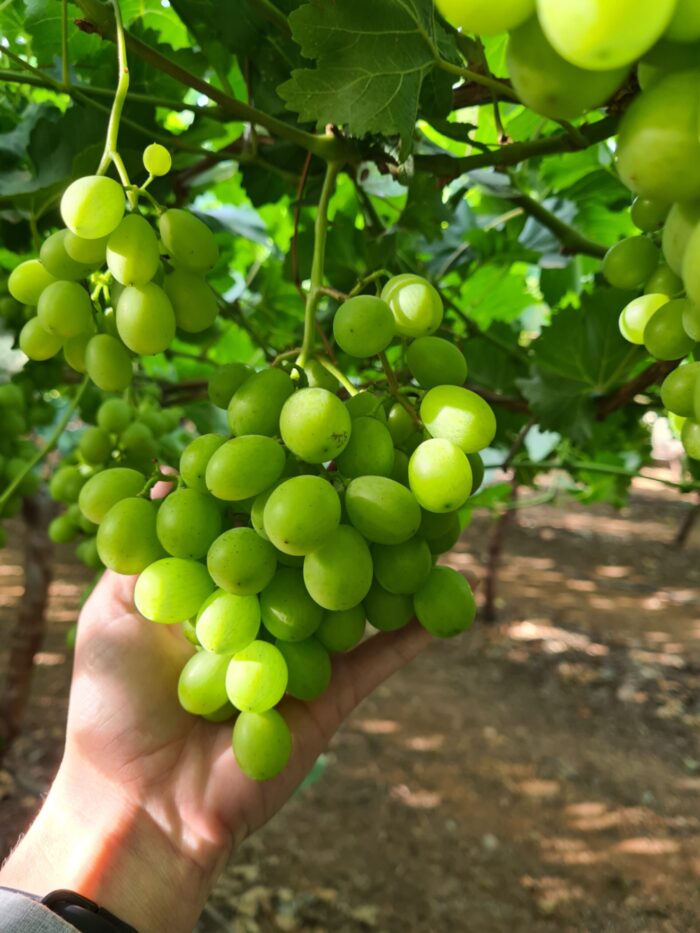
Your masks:
<svg viewBox="0 0 700 933"><path fill-rule="evenodd" d="M320 476L295 476L270 494L263 513L265 533L285 554L300 556L318 547L340 522L340 499Z"/></svg>

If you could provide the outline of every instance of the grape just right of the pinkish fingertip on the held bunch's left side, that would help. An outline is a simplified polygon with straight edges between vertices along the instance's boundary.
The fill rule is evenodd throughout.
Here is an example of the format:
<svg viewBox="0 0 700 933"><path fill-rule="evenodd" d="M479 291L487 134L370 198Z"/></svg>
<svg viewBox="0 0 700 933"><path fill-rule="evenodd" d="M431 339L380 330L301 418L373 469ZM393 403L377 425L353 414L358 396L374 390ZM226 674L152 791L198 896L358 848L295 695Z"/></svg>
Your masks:
<svg viewBox="0 0 700 933"><path fill-rule="evenodd" d="M197 560L221 533L219 506L196 489L177 489L161 503L156 531L168 554Z"/></svg>

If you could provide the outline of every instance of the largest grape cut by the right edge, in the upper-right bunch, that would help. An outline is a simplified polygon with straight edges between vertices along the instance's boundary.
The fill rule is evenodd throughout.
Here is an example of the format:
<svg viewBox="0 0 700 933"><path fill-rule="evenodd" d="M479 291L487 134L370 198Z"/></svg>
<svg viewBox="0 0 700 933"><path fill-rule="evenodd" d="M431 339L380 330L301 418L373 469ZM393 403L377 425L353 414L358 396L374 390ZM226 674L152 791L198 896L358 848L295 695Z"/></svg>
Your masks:
<svg viewBox="0 0 700 933"><path fill-rule="evenodd" d="M666 202L700 197L699 105L698 70L667 74L632 102L620 124L617 167L635 194Z"/></svg>

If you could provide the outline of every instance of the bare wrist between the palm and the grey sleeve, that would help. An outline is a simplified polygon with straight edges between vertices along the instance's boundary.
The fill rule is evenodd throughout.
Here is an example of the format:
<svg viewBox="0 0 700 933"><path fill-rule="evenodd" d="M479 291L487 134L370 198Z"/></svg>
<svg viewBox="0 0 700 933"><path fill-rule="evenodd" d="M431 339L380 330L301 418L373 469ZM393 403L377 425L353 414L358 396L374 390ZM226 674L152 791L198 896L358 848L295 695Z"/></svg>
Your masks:
<svg viewBox="0 0 700 933"><path fill-rule="evenodd" d="M139 933L190 933L225 857L193 858L118 787L61 765L27 834L0 870L0 884L44 896L77 891ZM220 850L219 850L220 851ZM201 853L200 853L201 854Z"/></svg>

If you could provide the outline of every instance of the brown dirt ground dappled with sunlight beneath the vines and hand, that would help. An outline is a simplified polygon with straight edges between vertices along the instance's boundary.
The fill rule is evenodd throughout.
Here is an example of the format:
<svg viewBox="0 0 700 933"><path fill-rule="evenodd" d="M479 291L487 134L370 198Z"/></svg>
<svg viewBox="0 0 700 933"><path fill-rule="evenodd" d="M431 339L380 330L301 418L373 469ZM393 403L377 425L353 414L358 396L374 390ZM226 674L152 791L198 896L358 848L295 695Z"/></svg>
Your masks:
<svg viewBox="0 0 700 933"><path fill-rule="evenodd" d="M684 508L639 487L623 512L520 512L499 624L433 645L362 705L240 850L200 933L699 930L700 530L669 546ZM491 527L453 566L480 572ZM6 633L22 580L4 556ZM0 771L0 858L61 754L87 573L65 549L55 576Z"/></svg>

